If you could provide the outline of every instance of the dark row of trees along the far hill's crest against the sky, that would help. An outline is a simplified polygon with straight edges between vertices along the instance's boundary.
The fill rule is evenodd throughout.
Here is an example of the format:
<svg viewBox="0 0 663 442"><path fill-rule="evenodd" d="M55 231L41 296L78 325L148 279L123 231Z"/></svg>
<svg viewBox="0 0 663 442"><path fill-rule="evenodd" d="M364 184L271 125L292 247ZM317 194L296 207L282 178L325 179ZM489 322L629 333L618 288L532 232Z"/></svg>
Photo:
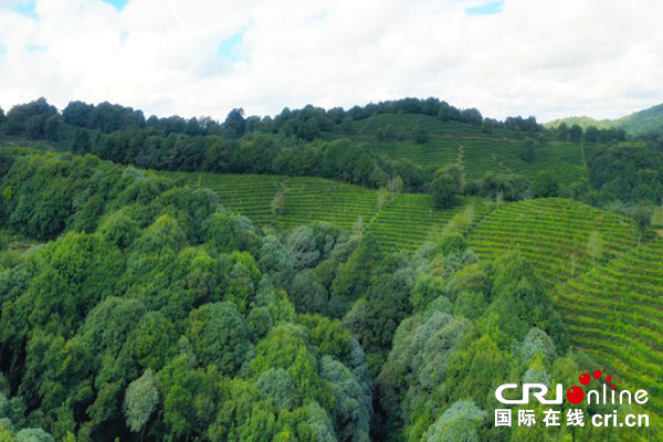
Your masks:
<svg viewBox="0 0 663 442"><path fill-rule="evenodd" d="M239 138L249 133L260 131L283 134L287 137L294 136L298 139L312 141L318 138L322 133L351 134L352 122L381 114L429 115L439 117L444 122L453 120L475 126L482 126L484 120L487 120L487 124L495 128L504 127L509 130L527 133L541 130L541 126L536 123L534 117L508 117L505 122L484 119L476 108L460 109L438 98L404 98L377 104L371 103L366 106L354 106L347 110L341 107L327 110L312 105L294 110L286 107L273 118L271 116L263 118L257 116L245 117L243 109L235 108L228 114L223 123L219 123L210 117L187 119L177 115L165 118L152 115L146 118L139 109L107 102L96 106L80 101L71 102L60 115L57 109L49 105L45 98L42 97L12 107L7 117L2 112L0 119L7 118L8 134L25 134L35 139L56 139L62 123L66 123L80 128L99 130L104 134L112 134L116 130L152 128L166 136L170 134L188 136L221 135ZM45 120L57 115L61 118L49 123L51 130L44 130Z"/></svg>

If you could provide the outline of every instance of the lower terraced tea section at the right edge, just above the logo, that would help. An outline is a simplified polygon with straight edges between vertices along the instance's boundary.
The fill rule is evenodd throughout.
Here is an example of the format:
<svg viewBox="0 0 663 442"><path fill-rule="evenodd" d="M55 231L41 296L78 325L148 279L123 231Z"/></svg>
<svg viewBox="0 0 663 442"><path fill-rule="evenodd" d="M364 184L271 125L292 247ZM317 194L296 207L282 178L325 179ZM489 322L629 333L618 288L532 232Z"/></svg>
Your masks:
<svg viewBox="0 0 663 442"><path fill-rule="evenodd" d="M556 305L572 344L663 413L663 239L560 285Z"/></svg>

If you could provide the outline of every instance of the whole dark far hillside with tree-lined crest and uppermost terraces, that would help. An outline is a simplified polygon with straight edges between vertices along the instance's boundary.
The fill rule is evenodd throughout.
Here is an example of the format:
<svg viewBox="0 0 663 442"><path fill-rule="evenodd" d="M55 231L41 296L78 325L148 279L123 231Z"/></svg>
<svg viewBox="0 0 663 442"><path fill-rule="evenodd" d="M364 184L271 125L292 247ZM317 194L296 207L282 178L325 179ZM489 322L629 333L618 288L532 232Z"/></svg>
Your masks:
<svg viewBox="0 0 663 442"><path fill-rule="evenodd" d="M438 98L350 109L308 105L274 117L245 117L238 108L223 122L146 118L109 103L71 102L60 112L44 98L0 114L0 141L8 145L93 154L145 169L328 178L429 193L438 208L454 206L454 196L562 197L636 218L662 193L657 133L634 138L614 128L547 129L535 117L496 120Z"/></svg>

